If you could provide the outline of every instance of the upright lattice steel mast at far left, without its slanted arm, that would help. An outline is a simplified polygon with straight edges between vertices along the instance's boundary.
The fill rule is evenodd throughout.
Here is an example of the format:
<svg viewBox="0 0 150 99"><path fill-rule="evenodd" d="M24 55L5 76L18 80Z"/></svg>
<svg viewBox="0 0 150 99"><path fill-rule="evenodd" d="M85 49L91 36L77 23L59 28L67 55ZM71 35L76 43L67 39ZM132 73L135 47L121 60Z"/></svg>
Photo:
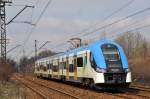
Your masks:
<svg viewBox="0 0 150 99"><path fill-rule="evenodd" d="M12 2L11 0L0 0L1 63L6 63L6 3Z"/></svg>

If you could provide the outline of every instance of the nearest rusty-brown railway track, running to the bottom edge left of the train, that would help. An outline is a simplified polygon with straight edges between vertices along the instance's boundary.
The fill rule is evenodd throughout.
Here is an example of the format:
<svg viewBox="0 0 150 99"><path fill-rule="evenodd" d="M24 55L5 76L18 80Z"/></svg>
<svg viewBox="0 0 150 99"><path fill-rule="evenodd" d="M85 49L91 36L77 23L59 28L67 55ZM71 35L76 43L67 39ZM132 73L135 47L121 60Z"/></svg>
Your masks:
<svg viewBox="0 0 150 99"><path fill-rule="evenodd" d="M61 97L64 96L65 99L81 99L80 97L77 97L73 94L67 93L63 90L59 90L59 89L55 89L52 87L48 87L44 84L41 83L37 83L34 80L29 80L29 79L25 79L25 78L20 78L20 76L15 76L15 79L19 80L22 84L24 84L26 87L28 87L29 89L31 89L32 91L34 91L35 93L37 93L38 95L40 95L42 98L44 99L51 99L51 95L48 93L52 93L52 91L54 91L54 93L56 93L56 95L58 96L58 94L60 94ZM33 86L34 85L34 86ZM35 85L37 87L35 87ZM55 95L53 94L53 98Z"/></svg>

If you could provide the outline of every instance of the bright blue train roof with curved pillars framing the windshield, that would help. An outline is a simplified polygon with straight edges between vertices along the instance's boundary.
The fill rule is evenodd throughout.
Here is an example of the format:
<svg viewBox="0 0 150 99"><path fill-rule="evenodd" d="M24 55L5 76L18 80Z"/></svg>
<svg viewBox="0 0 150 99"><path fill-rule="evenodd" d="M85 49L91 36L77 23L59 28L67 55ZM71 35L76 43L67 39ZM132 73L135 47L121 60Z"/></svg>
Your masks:
<svg viewBox="0 0 150 99"><path fill-rule="evenodd" d="M66 51L64 53L59 53L59 54L56 54L54 56L50 56L50 57L47 57L47 58L42 58L38 61L45 61L45 60L50 59L50 58L56 58L57 59L59 57L69 56L72 53L77 54L80 51L90 50L90 52L92 53L92 55L93 55L93 57L96 61L97 66L102 67L102 68L106 68L106 63L102 62L102 61L104 61L104 57L103 57L102 49L100 48L103 44L113 44L113 45L115 45L119 50L121 59L123 60L122 64L123 64L124 68L128 68L128 61L127 61L127 58L124 54L124 51L123 51L122 47L120 45L118 45L117 43L115 43L111 40L106 40L106 39L99 40L99 41L91 43L87 46L82 46L82 47L79 47L79 48L75 48L73 50L69 50L69 51Z"/></svg>

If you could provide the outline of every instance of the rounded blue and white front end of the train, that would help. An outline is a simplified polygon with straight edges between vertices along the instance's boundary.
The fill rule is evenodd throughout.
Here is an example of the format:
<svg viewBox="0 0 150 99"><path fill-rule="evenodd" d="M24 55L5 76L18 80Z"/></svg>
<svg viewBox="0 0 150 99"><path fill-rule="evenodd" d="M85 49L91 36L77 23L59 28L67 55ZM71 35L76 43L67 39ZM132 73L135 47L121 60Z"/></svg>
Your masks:
<svg viewBox="0 0 150 99"><path fill-rule="evenodd" d="M131 71L123 49L112 41L99 41L91 46L91 65L94 82L98 86L127 87Z"/></svg>

